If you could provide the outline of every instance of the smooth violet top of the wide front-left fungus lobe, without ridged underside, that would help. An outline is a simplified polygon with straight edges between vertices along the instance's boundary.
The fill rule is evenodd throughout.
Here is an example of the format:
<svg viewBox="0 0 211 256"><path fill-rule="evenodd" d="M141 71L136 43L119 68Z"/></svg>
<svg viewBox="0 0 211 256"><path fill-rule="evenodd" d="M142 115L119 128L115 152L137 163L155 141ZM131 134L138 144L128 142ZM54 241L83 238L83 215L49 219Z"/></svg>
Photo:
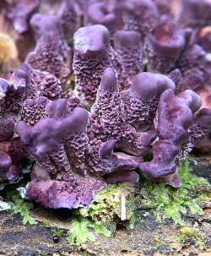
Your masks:
<svg viewBox="0 0 211 256"><path fill-rule="evenodd" d="M57 101L58 104L64 105L63 100ZM58 111L59 107L56 108ZM62 111L59 110L60 114ZM29 147L31 155L35 155L35 158L39 159L51 153L51 151L57 150L68 134L71 135L83 130L88 120L88 113L81 108L76 108L68 117L57 117L57 114L55 115L56 117L41 119L33 128L30 128L23 121L18 123L20 139L27 148Z"/></svg>

